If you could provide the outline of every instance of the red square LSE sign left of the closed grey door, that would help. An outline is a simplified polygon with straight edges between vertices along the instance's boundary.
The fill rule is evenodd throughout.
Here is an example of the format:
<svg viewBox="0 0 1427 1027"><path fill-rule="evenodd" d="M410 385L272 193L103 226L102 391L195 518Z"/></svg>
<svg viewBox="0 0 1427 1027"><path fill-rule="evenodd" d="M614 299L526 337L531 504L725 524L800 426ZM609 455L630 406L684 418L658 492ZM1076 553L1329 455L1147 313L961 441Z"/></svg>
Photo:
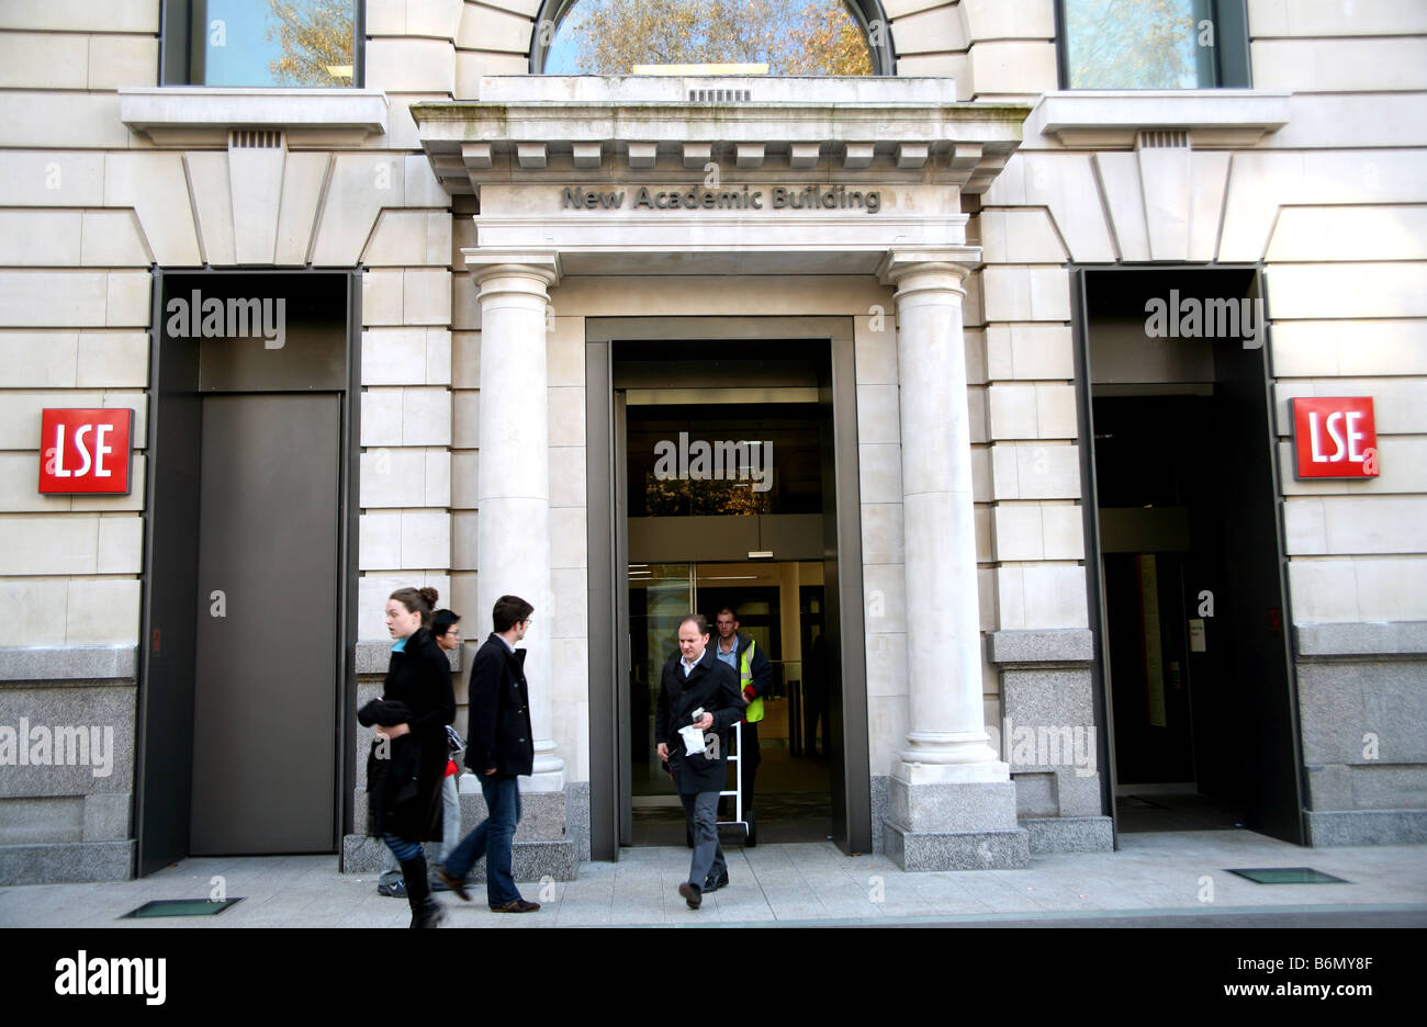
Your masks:
<svg viewBox="0 0 1427 1027"><path fill-rule="evenodd" d="M128 495L134 411L46 409L40 414L40 494Z"/></svg>

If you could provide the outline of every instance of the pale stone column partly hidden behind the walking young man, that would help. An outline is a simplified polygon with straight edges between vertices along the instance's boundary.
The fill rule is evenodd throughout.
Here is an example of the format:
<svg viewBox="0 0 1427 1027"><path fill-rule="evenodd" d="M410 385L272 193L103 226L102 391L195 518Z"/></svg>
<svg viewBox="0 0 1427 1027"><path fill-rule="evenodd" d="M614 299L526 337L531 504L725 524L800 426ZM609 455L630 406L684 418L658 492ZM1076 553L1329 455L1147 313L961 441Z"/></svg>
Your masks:
<svg viewBox="0 0 1427 1027"><path fill-rule="evenodd" d="M554 255L467 254L481 302L481 434L477 491L477 616L484 639L502 595L535 606L525 635L535 773L522 792L564 792L551 713L549 379L545 368L547 287Z"/></svg>

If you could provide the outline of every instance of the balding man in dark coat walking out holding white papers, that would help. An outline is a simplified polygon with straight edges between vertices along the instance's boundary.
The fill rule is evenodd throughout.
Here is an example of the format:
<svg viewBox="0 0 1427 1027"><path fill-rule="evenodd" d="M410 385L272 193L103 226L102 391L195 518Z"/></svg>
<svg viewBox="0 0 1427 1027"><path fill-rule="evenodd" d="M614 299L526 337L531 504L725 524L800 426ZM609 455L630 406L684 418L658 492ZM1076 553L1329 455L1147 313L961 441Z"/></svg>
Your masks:
<svg viewBox="0 0 1427 1027"><path fill-rule="evenodd" d="M699 710L695 716L695 710ZM694 860L679 894L698 909L705 884L728 884L728 863L718 843L718 793L728 777L728 729L743 716L738 675L714 656L709 626L699 613L679 622L679 653L664 665L654 716L655 750L668 760L679 802L694 824ZM681 727L704 732L704 752L689 755Z"/></svg>

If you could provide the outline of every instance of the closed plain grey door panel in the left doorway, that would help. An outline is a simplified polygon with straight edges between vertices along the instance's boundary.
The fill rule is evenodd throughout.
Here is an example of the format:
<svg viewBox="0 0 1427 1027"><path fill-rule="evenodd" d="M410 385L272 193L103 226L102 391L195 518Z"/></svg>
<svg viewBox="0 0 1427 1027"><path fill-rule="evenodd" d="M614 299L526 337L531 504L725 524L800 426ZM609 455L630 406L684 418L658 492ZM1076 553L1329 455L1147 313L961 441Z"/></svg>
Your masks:
<svg viewBox="0 0 1427 1027"><path fill-rule="evenodd" d="M338 394L203 399L194 856L334 846L340 451Z"/></svg>

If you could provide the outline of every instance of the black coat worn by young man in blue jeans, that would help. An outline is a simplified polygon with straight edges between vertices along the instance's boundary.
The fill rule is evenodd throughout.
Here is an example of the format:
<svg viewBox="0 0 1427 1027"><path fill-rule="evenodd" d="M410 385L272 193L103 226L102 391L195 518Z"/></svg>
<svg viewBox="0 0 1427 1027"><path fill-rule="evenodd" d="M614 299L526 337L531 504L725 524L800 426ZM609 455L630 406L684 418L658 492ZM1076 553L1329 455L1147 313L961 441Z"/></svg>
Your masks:
<svg viewBox="0 0 1427 1027"><path fill-rule="evenodd" d="M529 775L535 766L535 732L525 683L525 650L511 652L491 632L471 662L471 720L465 732L465 765L478 776Z"/></svg>

